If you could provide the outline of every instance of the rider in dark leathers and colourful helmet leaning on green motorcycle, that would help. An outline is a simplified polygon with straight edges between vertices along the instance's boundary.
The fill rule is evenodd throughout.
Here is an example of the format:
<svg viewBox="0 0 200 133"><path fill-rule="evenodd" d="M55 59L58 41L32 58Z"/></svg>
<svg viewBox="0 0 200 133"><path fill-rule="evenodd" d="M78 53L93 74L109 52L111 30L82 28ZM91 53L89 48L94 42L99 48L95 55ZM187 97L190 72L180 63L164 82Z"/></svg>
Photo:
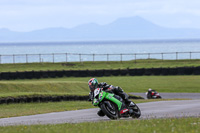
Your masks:
<svg viewBox="0 0 200 133"><path fill-rule="evenodd" d="M93 100L94 90L96 88L103 88L104 91L111 92L111 93L114 93L114 94L120 96L127 105L134 106L134 103L128 99L128 95L119 86L108 85L106 82L98 83L98 80L96 78L91 78L88 81L88 86L90 88L89 101ZM99 110L97 114L99 116L105 115L102 110Z"/></svg>

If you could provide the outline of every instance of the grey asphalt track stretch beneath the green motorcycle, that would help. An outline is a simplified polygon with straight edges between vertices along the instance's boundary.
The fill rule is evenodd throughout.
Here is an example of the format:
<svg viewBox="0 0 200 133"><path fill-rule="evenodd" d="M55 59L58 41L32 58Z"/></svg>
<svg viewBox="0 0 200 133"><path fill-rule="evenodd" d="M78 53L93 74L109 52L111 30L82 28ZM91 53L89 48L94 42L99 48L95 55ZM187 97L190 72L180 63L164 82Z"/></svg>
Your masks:
<svg viewBox="0 0 200 133"><path fill-rule="evenodd" d="M170 118L170 117L200 117L200 99L158 101L137 104L142 115L139 119ZM92 106L92 105L91 105ZM83 109L76 111L55 112L21 117L0 119L0 126L8 125L33 125L33 124L58 124L109 121L106 116L99 117L99 109ZM125 118L124 118L125 119ZM131 120L132 118L126 118Z"/></svg>

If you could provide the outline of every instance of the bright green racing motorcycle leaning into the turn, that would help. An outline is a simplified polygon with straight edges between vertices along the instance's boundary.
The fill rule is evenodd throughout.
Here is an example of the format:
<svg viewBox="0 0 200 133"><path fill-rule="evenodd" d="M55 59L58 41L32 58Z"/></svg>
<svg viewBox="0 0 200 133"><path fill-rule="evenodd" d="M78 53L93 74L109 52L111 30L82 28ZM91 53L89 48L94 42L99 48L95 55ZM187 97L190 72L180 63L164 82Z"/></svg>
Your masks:
<svg viewBox="0 0 200 133"><path fill-rule="evenodd" d="M141 111L134 102L132 104L129 107L120 96L106 92L103 88L94 90L93 105L98 106L110 119L114 120L121 117L139 118Z"/></svg>

